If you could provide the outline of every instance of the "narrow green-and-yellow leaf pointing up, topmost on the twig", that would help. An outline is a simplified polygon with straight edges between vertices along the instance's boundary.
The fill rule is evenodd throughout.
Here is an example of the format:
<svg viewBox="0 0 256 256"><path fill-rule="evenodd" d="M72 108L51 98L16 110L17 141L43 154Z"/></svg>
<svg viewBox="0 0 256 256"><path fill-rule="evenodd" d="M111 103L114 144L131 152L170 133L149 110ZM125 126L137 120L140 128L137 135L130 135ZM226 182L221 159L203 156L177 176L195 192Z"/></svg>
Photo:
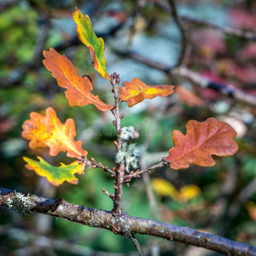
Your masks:
<svg viewBox="0 0 256 256"><path fill-rule="evenodd" d="M77 32L79 40L90 49L90 57L93 67L102 75L103 79L109 79L110 76L106 70L106 60L104 57L104 41L102 38L97 38L90 22L88 15L83 15L76 8L73 13L73 20L77 24Z"/></svg>

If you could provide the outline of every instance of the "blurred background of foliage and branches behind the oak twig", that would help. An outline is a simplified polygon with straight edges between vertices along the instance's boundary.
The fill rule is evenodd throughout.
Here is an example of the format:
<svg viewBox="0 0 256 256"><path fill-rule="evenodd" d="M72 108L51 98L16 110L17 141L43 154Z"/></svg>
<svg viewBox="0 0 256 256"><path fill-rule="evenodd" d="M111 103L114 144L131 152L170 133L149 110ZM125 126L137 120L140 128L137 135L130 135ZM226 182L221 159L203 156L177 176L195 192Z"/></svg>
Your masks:
<svg viewBox="0 0 256 256"><path fill-rule="evenodd" d="M140 133L141 166L161 160L172 147L172 131L185 132L189 119L215 117L232 125L239 152L216 159L216 166L169 167L132 180L124 190L125 212L189 226L256 246L256 3L253 0L179 1L0 1L0 186L86 207L112 209L102 188L113 192L113 178L86 169L79 185L55 188L26 170L22 156L44 157L52 165L70 163L65 154L49 157L31 150L20 137L32 111L55 108L62 122L73 118L77 139L89 157L114 165L115 131L111 113L94 106L70 107L42 64L43 49L67 55L80 75L90 75L94 93L113 104L108 80L90 64L79 42L75 7L90 15L105 40L108 73L121 82L137 77L147 84L174 84L166 98L133 108L121 104L122 125ZM226 27L233 29L228 30ZM255 33L255 34L254 34ZM138 236L146 255L218 255L177 242ZM131 241L107 230L91 229L35 214L21 218L0 208L0 255L136 255Z"/></svg>

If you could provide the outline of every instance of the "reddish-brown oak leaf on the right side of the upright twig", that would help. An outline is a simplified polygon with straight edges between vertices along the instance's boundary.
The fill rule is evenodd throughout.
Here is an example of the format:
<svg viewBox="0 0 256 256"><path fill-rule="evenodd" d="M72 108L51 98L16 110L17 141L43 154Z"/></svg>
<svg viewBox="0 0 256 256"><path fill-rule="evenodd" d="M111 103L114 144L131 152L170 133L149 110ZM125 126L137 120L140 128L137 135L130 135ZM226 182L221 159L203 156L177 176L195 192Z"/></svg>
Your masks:
<svg viewBox="0 0 256 256"><path fill-rule="evenodd" d="M187 133L173 131L174 147L169 150L167 160L172 169L188 168L189 164L214 166L212 154L229 156L236 154L238 146L233 140L236 131L227 123L209 118L205 122L190 120Z"/></svg>

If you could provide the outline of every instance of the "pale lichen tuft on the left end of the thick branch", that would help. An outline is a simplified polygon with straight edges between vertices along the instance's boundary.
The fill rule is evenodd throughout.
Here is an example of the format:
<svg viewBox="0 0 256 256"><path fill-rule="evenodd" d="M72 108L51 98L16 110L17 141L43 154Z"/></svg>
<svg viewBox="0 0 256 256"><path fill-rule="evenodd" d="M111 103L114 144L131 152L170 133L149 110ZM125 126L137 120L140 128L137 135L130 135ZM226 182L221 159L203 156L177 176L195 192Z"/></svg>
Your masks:
<svg viewBox="0 0 256 256"><path fill-rule="evenodd" d="M23 195L15 191L14 195L7 200L7 206L10 210L18 212L22 217L33 213L30 211L32 203L29 200L29 194Z"/></svg>

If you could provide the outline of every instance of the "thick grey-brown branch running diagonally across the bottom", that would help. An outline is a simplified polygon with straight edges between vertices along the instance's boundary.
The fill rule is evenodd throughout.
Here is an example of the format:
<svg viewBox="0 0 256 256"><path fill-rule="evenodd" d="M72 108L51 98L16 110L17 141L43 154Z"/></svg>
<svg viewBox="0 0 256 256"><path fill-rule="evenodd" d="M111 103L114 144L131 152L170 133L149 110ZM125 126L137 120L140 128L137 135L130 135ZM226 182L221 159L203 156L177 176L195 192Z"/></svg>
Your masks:
<svg viewBox="0 0 256 256"><path fill-rule="evenodd" d="M15 191L0 189L0 206L8 207L8 201L13 200L14 196ZM112 212L82 207L62 199L53 200L37 195L30 195L28 201L31 212L44 213L90 227L111 230L122 236L131 237L134 234L156 236L204 247L224 255L256 255L256 247L173 224L136 218L126 213L115 218ZM119 229L117 230L115 227L119 227Z"/></svg>

